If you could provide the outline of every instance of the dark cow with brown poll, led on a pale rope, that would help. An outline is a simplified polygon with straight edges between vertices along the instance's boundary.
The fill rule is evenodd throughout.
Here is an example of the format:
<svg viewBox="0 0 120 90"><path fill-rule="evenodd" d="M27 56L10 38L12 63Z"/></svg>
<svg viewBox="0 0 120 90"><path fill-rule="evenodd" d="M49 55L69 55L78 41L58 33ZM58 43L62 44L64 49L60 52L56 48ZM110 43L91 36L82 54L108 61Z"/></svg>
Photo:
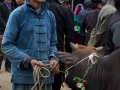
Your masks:
<svg viewBox="0 0 120 90"><path fill-rule="evenodd" d="M56 52L55 55L69 68L94 52L97 53L94 48L88 49L86 47L81 49L78 46L73 53ZM96 61L85 76L85 80L88 83L85 85L86 90L120 90L120 49L109 56L96 57ZM80 90L76 87L76 82L73 81L73 78L75 76L82 78L87 67L91 65L91 63L87 64L88 58L68 70L69 73L66 76L65 83L72 90Z"/></svg>

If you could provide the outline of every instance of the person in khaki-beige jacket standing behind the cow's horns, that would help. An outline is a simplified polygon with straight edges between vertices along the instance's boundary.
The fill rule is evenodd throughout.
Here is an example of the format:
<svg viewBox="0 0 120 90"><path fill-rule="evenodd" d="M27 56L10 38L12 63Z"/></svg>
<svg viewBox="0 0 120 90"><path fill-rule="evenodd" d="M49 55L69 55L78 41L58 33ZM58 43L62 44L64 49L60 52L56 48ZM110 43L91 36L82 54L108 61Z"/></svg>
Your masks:
<svg viewBox="0 0 120 90"><path fill-rule="evenodd" d="M100 51L102 55L105 54L104 46L108 24L115 11L114 0L107 0L107 4L101 9L98 15L97 24L92 30L90 40L88 41L88 46L103 47Z"/></svg>

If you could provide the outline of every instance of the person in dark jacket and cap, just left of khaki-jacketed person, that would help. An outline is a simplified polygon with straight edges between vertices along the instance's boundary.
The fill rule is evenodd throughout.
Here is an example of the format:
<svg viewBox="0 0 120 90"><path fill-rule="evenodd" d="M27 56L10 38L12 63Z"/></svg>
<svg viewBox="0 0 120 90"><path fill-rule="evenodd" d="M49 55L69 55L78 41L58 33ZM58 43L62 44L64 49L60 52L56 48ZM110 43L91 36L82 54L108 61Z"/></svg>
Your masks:
<svg viewBox="0 0 120 90"><path fill-rule="evenodd" d="M80 24L81 30L86 33L85 46L87 46L90 34L97 23L98 14L106 2L106 0L92 0L92 10L86 14Z"/></svg>

